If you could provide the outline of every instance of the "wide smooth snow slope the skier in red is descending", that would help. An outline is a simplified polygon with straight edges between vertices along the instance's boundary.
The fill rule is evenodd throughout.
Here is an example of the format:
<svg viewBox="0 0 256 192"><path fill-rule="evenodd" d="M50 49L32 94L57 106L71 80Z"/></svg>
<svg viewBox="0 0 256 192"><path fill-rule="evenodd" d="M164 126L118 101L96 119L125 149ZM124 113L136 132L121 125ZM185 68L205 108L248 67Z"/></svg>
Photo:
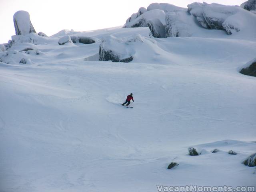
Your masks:
<svg viewBox="0 0 256 192"><path fill-rule="evenodd" d="M149 32L32 33L33 42L0 52L0 191L255 186L255 168L241 162L256 149L256 79L238 72L255 58L255 37L209 30L157 39ZM144 43L134 42L130 63L99 62L100 42L58 45L73 34ZM31 63L20 64L24 57ZM134 108L120 106L131 92ZM204 153L188 156L190 146ZM172 161L179 166L167 170Z"/></svg>

